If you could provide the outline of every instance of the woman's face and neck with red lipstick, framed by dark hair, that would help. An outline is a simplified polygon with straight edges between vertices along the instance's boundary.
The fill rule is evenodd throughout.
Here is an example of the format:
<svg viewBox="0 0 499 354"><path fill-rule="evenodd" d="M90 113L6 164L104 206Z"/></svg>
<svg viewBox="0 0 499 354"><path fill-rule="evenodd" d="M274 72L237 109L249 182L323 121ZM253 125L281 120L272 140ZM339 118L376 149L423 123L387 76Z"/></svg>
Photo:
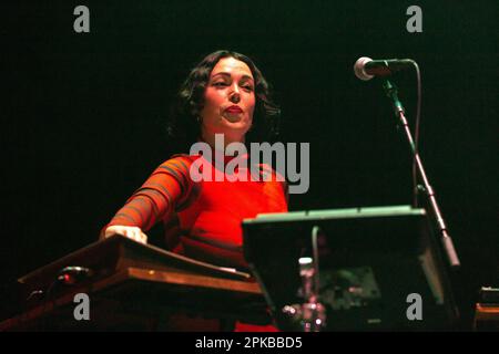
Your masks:
<svg viewBox="0 0 499 354"><path fill-rule="evenodd" d="M225 144L244 142L252 126L255 108L255 83L246 63L223 58L213 67L204 93L201 111L202 137L214 142L215 134L224 134Z"/></svg>

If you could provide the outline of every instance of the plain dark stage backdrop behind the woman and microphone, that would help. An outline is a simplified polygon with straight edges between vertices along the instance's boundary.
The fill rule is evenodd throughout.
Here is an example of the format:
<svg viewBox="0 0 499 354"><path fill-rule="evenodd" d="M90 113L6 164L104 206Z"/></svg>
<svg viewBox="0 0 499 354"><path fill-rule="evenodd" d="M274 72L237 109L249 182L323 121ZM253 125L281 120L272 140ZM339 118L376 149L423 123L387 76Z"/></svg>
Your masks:
<svg viewBox="0 0 499 354"><path fill-rule="evenodd" d="M73 30L79 4L90 33ZM420 33L406 30L413 4ZM465 313L498 284L497 1L11 1L1 12L2 313L14 279L95 241L174 153L167 107L217 49L254 59L282 105L283 140L310 143L310 188L293 210L410 204L390 104L352 67L364 55L416 60L420 150L462 261ZM415 73L394 81L414 127Z"/></svg>

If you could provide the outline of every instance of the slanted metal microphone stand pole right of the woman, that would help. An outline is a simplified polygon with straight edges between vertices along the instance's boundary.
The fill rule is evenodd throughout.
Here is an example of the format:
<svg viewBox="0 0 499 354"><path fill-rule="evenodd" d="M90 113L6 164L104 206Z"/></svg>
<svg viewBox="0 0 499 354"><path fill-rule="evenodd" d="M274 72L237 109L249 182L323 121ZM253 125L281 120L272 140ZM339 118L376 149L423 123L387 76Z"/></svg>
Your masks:
<svg viewBox="0 0 499 354"><path fill-rule="evenodd" d="M413 152L414 160L416 162L416 168L422 180L424 186L421 189L422 189L422 191L425 191L426 196L428 197L429 205L431 206L431 209L434 211L434 216L437 221L437 228L439 231L439 237L440 237L444 250L447 254L447 259L450 263L450 267L452 269L457 269L460 267L459 258L454 248L452 239L450 238L449 233L447 232L447 227L444 221L444 217L441 216L440 208L438 207L434 188L431 188L431 186L428 181L425 168L424 168L421 159L419 157L419 153L416 150L416 146L415 146L414 139L413 139L413 134L410 133L410 128L409 128L409 125L407 124L407 119L405 116L404 106L403 106L401 102L398 100L397 87L395 85L393 85L388 80L385 79L383 82L383 88L385 90L386 95L391 100L391 103L394 105L395 115L399 119L401 126L404 127L404 132L406 133L407 140L409 142L409 146Z"/></svg>

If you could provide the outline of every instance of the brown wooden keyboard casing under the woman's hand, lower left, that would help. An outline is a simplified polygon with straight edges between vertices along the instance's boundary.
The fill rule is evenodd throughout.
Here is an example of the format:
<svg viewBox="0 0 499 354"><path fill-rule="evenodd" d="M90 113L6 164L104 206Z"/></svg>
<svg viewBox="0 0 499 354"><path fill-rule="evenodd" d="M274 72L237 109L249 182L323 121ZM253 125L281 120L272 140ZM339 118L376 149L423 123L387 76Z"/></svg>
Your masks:
<svg viewBox="0 0 499 354"><path fill-rule="evenodd" d="M91 299L89 324L73 317L73 298L79 292ZM128 330L133 325L135 330L151 330L151 323L157 324L161 316L173 313L269 321L262 291L254 281L125 268L94 283L69 288L55 299L3 321L0 331Z"/></svg>

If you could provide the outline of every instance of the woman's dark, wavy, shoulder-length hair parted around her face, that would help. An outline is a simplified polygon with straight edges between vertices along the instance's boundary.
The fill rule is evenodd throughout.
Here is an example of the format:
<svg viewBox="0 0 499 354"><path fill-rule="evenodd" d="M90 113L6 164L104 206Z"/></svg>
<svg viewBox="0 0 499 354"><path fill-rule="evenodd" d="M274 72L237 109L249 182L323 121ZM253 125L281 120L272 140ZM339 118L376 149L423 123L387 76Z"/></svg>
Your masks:
<svg viewBox="0 0 499 354"><path fill-rule="evenodd" d="M170 108L166 132L175 148L189 149L201 137L200 112L204 105L204 92L210 74L224 58L234 58L249 66L255 82L255 110L253 124L246 134L246 143L275 142L279 132L281 110L271 98L271 85L253 61L241 53L220 50L206 55L181 85Z"/></svg>

